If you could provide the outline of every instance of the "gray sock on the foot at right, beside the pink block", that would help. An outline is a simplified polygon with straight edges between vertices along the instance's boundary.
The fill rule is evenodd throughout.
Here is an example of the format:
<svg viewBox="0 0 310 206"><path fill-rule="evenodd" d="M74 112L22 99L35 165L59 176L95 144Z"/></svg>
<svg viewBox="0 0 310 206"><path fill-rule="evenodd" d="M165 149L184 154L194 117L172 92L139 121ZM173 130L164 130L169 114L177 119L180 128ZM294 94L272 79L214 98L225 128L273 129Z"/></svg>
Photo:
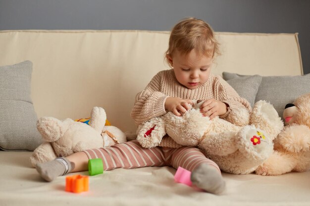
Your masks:
<svg viewBox="0 0 310 206"><path fill-rule="evenodd" d="M217 169L208 164L199 165L191 174L193 185L209 193L220 194L225 190L225 181Z"/></svg>

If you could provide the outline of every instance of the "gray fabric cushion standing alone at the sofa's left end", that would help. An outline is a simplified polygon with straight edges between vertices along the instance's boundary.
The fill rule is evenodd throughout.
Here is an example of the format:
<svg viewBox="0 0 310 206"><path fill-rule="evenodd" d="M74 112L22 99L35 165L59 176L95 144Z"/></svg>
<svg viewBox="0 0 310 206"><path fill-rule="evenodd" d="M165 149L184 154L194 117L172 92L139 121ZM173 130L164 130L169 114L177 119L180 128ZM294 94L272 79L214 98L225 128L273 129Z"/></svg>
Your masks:
<svg viewBox="0 0 310 206"><path fill-rule="evenodd" d="M42 137L31 100L32 63L0 66L0 149L33 151Z"/></svg>

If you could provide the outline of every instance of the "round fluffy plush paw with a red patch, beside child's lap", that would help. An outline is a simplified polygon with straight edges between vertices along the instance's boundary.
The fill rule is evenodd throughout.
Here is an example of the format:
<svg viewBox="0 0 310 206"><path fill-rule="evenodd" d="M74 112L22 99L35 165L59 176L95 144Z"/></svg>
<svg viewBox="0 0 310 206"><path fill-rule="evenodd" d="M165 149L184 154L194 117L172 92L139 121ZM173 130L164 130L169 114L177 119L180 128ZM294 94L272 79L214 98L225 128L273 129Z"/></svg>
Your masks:
<svg viewBox="0 0 310 206"><path fill-rule="evenodd" d="M156 147L166 134L164 122L160 117L155 117L139 126L137 140L145 148Z"/></svg>

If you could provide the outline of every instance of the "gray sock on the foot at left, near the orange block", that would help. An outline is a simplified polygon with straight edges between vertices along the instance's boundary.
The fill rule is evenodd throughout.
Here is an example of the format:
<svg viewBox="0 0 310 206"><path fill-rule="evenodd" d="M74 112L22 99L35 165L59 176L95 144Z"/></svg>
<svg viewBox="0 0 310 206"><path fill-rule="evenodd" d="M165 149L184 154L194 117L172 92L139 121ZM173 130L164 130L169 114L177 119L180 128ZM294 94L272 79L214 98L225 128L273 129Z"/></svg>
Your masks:
<svg viewBox="0 0 310 206"><path fill-rule="evenodd" d="M36 169L46 181L51 182L55 177L65 175L74 169L74 163L66 158L56 158L46 163L38 163Z"/></svg>

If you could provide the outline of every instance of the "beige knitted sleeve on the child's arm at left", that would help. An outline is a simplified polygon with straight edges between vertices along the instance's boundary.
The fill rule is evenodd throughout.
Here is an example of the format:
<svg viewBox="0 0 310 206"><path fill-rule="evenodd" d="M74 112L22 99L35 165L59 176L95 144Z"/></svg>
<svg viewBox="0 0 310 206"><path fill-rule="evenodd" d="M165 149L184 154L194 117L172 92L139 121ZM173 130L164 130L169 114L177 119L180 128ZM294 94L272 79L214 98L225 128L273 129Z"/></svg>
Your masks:
<svg viewBox="0 0 310 206"><path fill-rule="evenodd" d="M164 103L168 96L160 92L161 74L157 73L146 88L136 95L130 114L136 125L166 114Z"/></svg>

